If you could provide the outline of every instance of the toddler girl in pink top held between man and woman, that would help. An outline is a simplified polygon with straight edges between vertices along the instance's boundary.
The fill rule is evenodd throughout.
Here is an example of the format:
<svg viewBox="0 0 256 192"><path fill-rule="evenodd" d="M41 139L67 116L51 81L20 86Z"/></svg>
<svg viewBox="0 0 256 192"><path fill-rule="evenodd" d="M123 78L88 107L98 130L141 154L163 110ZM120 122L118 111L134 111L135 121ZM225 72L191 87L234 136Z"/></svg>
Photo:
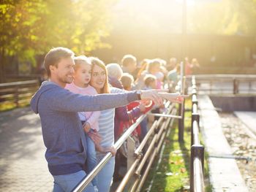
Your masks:
<svg viewBox="0 0 256 192"><path fill-rule="evenodd" d="M84 55L75 57L74 61L74 81L71 84L67 84L65 88L73 93L96 95L97 91L89 85L91 80L91 61L89 61L89 59ZM99 131L98 120L100 112L78 112L78 115L83 123L83 130L86 132L86 169L88 172L91 172L91 170L97 165L97 158L94 142L88 136L88 133L91 131ZM94 185L94 190L97 191L97 177L94 177L94 180L92 180L92 185Z"/></svg>

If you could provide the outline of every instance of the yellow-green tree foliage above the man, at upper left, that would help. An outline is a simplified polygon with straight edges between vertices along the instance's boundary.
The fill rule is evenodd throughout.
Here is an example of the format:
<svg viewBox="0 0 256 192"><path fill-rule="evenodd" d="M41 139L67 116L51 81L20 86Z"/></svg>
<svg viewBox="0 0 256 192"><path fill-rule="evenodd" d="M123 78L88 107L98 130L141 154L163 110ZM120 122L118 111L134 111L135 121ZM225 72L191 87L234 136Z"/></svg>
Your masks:
<svg viewBox="0 0 256 192"><path fill-rule="evenodd" d="M0 3L0 58L15 55L35 63L34 56L51 47L77 54L108 46L112 1L3 0Z"/></svg>

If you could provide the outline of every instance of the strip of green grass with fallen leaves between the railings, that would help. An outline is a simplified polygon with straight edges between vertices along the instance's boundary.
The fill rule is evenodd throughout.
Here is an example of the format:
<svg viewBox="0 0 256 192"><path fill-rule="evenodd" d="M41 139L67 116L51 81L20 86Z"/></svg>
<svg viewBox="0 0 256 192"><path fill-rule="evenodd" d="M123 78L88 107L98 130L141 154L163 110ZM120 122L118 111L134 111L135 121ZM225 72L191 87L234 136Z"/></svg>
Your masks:
<svg viewBox="0 0 256 192"><path fill-rule="evenodd" d="M191 100L186 101L184 120L184 143L178 142L178 120L175 120L170 135L165 139L165 150L157 169L155 161L144 185L148 189L151 180L151 191L189 191L190 173L190 137L191 137ZM206 154L207 156L207 154ZM208 164L205 159L205 180L208 181ZM169 175L168 175L169 174ZM206 191L211 192L211 185L206 182Z"/></svg>

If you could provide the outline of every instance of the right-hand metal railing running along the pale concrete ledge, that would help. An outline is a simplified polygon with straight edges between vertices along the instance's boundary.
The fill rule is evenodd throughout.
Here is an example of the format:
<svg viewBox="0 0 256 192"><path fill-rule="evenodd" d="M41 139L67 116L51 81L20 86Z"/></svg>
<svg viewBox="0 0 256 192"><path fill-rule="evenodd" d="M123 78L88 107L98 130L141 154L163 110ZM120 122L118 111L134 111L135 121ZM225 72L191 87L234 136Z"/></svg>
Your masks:
<svg viewBox="0 0 256 192"><path fill-rule="evenodd" d="M197 112L197 90L195 76L192 77L192 120L191 120L191 156L190 156L190 191L204 191L203 167L204 147L200 144L199 114Z"/></svg>

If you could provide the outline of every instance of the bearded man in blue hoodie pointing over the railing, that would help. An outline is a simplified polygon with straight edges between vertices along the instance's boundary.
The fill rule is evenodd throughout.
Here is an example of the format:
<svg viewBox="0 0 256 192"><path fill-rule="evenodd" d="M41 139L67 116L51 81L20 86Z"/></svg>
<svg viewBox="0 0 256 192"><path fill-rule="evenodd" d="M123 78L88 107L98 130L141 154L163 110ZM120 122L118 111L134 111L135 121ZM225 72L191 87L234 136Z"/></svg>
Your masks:
<svg viewBox="0 0 256 192"><path fill-rule="evenodd" d="M82 96L64 89L74 74L74 53L64 47L51 49L45 55L45 69L49 81L31 99L31 108L39 113L42 137L46 147L45 158L53 175L53 191L71 191L86 172L86 138L78 112L100 111L120 107L139 99L151 99L162 104L157 91L130 91L128 93ZM94 191L91 183L85 191Z"/></svg>

